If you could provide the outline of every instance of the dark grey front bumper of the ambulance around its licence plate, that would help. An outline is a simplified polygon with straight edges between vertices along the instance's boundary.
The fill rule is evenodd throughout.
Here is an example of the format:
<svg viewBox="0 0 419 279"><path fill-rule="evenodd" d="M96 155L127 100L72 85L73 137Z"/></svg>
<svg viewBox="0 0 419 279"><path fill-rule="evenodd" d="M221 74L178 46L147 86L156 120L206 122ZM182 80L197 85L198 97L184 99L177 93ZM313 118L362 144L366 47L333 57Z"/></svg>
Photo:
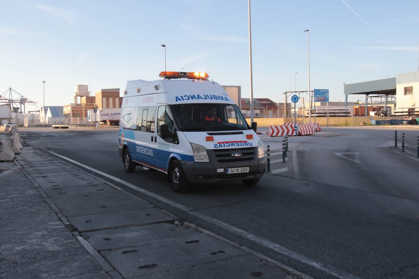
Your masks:
<svg viewBox="0 0 419 279"><path fill-rule="evenodd" d="M229 161L220 160L219 157L217 158L215 154L211 152L211 150L207 150L207 153L209 156L209 162L195 163L189 161L181 161L182 168L189 182L213 183L219 181L259 179L263 177L266 171L265 157L258 159L257 156L255 156L248 161ZM228 168L242 167L248 167L249 171L245 173L227 173Z"/></svg>

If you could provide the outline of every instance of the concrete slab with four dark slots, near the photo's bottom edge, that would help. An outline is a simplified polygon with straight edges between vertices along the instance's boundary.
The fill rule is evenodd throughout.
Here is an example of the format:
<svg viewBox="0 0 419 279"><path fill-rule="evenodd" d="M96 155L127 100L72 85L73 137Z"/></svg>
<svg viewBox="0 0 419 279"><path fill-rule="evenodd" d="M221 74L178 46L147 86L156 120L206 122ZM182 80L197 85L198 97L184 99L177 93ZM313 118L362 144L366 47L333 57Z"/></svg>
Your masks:
<svg viewBox="0 0 419 279"><path fill-rule="evenodd" d="M244 255L245 252L209 235L201 234L194 235L193 238L188 236L114 251L102 251L101 254L122 276L148 278L166 270L228 259Z"/></svg>

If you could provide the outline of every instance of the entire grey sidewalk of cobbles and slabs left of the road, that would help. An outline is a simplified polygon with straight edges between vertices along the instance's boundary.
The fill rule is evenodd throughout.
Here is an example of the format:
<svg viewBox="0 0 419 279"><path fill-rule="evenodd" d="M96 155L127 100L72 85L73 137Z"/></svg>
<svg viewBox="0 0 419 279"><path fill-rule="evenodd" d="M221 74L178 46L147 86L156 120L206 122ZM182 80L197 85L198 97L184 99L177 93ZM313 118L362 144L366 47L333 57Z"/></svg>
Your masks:
<svg viewBox="0 0 419 279"><path fill-rule="evenodd" d="M310 278L26 144L15 162L0 162L1 279Z"/></svg>

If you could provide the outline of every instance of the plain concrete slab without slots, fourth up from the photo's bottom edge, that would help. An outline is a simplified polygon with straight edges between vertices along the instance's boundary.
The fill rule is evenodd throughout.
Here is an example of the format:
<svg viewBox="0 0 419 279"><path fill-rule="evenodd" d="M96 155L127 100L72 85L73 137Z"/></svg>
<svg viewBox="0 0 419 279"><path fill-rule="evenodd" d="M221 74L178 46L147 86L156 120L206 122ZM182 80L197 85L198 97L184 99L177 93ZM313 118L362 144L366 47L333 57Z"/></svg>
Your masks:
<svg viewBox="0 0 419 279"><path fill-rule="evenodd" d="M57 195L51 197L51 200L66 216L82 216L152 207L149 203L134 199L111 188L95 193Z"/></svg>

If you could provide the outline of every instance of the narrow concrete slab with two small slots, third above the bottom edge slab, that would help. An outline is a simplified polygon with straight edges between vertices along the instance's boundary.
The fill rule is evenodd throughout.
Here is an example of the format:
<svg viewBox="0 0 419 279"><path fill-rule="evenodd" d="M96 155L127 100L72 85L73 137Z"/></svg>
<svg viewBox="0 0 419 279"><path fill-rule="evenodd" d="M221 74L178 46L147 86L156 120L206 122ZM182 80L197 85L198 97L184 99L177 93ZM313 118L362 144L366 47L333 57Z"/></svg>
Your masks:
<svg viewBox="0 0 419 279"><path fill-rule="evenodd" d="M157 222L173 222L171 216L155 208L68 217L80 233L98 229L123 228Z"/></svg>

